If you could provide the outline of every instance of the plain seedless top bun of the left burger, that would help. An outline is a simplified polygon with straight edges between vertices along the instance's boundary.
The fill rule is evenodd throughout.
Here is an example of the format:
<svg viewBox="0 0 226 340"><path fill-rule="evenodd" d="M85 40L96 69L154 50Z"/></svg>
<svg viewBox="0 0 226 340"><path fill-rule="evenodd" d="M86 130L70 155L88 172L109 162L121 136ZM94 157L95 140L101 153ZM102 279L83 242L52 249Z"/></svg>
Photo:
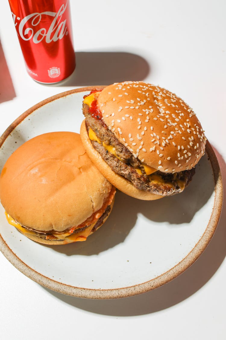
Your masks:
<svg viewBox="0 0 226 340"><path fill-rule="evenodd" d="M79 134L52 132L28 140L8 158L0 199L20 224L62 232L99 210L111 187L87 156Z"/></svg>

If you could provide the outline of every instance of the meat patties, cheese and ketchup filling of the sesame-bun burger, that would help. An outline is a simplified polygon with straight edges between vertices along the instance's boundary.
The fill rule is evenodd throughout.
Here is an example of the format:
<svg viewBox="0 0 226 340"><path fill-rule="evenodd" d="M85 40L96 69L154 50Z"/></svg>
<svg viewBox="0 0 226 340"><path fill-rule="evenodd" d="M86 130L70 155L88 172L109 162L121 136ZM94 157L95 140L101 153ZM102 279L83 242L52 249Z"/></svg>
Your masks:
<svg viewBox="0 0 226 340"><path fill-rule="evenodd" d="M195 169L164 173L140 162L119 142L102 120L97 107L98 95L98 91L91 91L90 95L84 97L83 114L91 143L110 168L139 190L160 195L183 191L191 181Z"/></svg>

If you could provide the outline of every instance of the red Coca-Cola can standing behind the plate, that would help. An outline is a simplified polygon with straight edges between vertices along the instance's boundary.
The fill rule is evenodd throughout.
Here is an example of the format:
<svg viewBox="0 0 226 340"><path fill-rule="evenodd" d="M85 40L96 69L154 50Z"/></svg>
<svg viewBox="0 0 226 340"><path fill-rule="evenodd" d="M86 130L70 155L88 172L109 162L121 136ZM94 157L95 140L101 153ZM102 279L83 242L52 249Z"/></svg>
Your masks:
<svg viewBox="0 0 226 340"><path fill-rule="evenodd" d="M69 0L9 0L28 74L58 83L75 69Z"/></svg>

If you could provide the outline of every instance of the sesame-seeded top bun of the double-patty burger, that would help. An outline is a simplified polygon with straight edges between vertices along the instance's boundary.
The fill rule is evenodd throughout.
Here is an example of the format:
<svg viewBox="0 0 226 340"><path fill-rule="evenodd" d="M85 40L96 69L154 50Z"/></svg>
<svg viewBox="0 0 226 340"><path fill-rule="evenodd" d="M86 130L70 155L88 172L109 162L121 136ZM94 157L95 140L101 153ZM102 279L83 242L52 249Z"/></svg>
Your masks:
<svg viewBox="0 0 226 340"><path fill-rule="evenodd" d="M194 167L206 138L192 109L172 92L144 82L105 87L97 100L103 121L135 157L162 172Z"/></svg>

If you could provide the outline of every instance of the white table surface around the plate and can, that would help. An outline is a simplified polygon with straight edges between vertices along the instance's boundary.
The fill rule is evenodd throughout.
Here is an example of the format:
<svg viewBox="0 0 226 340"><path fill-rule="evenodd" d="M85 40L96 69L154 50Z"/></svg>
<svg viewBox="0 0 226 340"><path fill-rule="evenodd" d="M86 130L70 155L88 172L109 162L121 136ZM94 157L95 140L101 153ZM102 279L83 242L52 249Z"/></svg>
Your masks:
<svg viewBox="0 0 226 340"><path fill-rule="evenodd" d="M59 92L144 80L194 109L225 183L226 2L70 2L77 68L66 83L46 86L27 75L8 2L1 1L0 135L26 109ZM0 338L225 339L225 222L224 203L214 237L189 269L156 290L119 300L50 291L0 253Z"/></svg>

